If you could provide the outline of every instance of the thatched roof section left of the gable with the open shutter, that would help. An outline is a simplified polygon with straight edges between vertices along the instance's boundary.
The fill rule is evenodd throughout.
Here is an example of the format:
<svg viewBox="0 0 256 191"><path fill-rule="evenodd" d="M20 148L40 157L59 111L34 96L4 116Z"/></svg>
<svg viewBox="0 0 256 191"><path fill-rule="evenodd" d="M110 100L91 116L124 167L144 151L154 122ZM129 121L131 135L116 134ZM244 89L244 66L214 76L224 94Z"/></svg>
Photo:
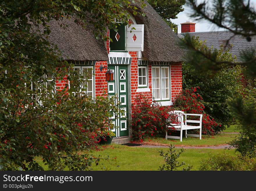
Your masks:
<svg viewBox="0 0 256 191"><path fill-rule="evenodd" d="M63 26L66 26L63 28ZM65 60L76 61L104 61L109 60L106 42L96 40L92 24L85 28L77 25L72 19L51 20L49 22L51 33L49 42L56 44Z"/></svg>

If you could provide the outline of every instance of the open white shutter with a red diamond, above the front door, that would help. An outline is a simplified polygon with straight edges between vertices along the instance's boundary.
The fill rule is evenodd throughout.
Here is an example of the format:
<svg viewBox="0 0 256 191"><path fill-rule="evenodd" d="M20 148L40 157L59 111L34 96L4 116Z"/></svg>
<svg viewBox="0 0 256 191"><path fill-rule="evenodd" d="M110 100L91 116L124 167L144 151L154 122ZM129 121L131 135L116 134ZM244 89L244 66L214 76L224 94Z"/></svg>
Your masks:
<svg viewBox="0 0 256 191"><path fill-rule="evenodd" d="M136 28L132 30L131 28ZM126 50L127 51L143 51L144 46L144 24L131 24L126 30Z"/></svg>

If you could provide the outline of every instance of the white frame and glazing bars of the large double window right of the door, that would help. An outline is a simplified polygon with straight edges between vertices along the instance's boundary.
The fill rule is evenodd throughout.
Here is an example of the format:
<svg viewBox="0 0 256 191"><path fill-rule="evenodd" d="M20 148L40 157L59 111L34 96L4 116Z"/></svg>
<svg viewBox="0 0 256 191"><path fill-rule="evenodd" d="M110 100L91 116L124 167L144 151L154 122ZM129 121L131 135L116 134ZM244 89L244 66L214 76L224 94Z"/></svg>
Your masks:
<svg viewBox="0 0 256 191"><path fill-rule="evenodd" d="M157 78L153 78L153 68L159 68L159 81L160 81L160 87L158 88L153 88L153 80L154 79L157 79ZM168 85L169 85L169 87L168 88L166 88L166 87L164 87L163 88L163 83L162 83L162 79L163 79L163 77L162 77L162 73L161 73L161 71L162 71L162 69L163 68L167 68L168 69L168 77L165 77L165 78L167 78L168 79ZM170 97L170 78L171 78L171 76L170 76L170 66L152 66L152 96L153 96L153 89L160 89L160 98L154 98L156 101L170 101L170 99L171 99L171 97ZM163 98L163 94L162 94L162 90L163 89L169 89L169 91L168 91L168 98Z"/></svg>

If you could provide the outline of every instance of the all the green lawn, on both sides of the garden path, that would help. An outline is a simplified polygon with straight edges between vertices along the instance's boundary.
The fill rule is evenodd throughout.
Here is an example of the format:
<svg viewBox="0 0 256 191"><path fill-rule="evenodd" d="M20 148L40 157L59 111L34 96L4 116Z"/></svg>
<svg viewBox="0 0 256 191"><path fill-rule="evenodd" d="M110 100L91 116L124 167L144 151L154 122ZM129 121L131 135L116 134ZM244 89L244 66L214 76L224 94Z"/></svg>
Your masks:
<svg viewBox="0 0 256 191"><path fill-rule="evenodd" d="M188 137L183 138L182 142L177 139L165 140L163 137L153 138L143 142L143 144L152 145L170 145L175 146L198 146L198 149L186 149L178 158L179 163L185 162L185 166L192 165L192 170L197 171L200 167L202 158L209 158L210 155L228 152L235 156L235 149L200 149L200 146L217 146L228 144L239 134L231 132L239 132L237 126L232 125L227 128L224 133L219 133L214 137L202 135L199 138ZM177 148L175 148L177 149ZM159 155L159 150L168 152L169 148L144 148L144 147L128 147L120 144L99 145L99 149L93 151L94 156L110 157L110 160L100 160L98 166L92 166L93 170L112 170L112 171L157 171L159 166L164 164L163 158ZM179 150L179 149L177 149ZM40 157L35 158L45 170L47 166L43 165ZM180 167L178 170L182 170Z"/></svg>

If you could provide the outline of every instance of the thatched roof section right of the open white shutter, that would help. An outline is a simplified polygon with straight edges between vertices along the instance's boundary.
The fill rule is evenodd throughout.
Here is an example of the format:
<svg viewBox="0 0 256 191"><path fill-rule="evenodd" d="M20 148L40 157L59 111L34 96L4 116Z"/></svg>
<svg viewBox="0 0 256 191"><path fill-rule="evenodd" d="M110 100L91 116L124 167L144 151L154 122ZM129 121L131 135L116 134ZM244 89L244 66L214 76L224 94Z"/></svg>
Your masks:
<svg viewBox="0 0 256 191"><path fill-rule="evenodd" d="M154 8L147 1L144 2L147 5L143 8L146 16L134 16L137 24L144 24L142 55L150 61L181 62L185 52L177 45L180 39ZM138 4L135 6L140 7Z"/></svg>

